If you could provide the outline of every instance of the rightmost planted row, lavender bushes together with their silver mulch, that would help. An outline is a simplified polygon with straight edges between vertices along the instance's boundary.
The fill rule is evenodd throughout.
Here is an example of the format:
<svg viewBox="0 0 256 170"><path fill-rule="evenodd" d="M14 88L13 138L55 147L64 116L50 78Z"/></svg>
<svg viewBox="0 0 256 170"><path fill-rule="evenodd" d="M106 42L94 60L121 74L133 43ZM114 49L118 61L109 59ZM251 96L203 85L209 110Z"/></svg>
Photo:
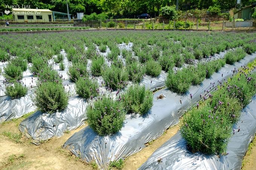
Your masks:
<svg viewBox="0 0 256 170"><path fill-rule="evenodd" d="M181 131L158 148L139 169L241 169L242 159L256 133L255 68L253 65L239 71L222 89L214 92L205 101L206 104L201 103L189 111L184 116ZM219 100L217 105L214 104L216 99ZM210 103L210 107L215 105L210 110L212 113L207 103ZM193 125L188 119L194 122ZM194 135L195 127L198 128L197 135ZM215 136L217 133L218 137ZM198 138L201 138L200 141Z"/></svg>

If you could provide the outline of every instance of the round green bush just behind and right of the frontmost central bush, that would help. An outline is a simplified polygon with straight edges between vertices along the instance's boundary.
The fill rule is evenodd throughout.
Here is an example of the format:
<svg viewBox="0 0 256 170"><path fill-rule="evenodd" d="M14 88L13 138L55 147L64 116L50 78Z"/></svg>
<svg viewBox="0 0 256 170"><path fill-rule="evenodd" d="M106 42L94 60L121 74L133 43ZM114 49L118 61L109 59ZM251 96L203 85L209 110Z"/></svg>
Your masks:
<svg viewBox="0 0 256 170"><path fill-rule="evenodd" d="M123 107L128 113L143 115L153 106L153 93L145 86L133 85L122 95Z"/></svg>

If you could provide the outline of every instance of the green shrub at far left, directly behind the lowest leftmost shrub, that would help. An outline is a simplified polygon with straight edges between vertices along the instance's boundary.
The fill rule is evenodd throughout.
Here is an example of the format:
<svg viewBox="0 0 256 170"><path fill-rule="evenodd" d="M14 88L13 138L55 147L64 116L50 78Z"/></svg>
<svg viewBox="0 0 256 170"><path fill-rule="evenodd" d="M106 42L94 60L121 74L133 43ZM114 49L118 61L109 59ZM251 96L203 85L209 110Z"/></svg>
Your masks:
<svg viewBox="0 0 256 170"><path fill-rule="evenodd" d="M9 63L5 68L3 68L3 70L5 71L3 76L8 81L21 80L21 78L23 77L21 67L17 67L12 63Z"/></svg>

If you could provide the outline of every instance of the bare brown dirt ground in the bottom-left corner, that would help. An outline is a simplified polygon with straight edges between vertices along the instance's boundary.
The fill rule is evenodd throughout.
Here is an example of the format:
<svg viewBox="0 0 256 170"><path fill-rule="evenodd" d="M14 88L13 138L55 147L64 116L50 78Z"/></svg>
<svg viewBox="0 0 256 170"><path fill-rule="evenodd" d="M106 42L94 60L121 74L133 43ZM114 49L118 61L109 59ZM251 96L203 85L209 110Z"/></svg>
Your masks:
<svg viewBox="0 0 256 170"><path fill-rule="evenodd" d="M16 143L11 141L9 137L3 135L3 132L19 134L17 125L21 120L0 125L0 169L92 169L90 165L79 161L70 152L61 148L62 144L71 135L86 125L70 131L69 134L64 134L60 138L52 138L40 146L35 146L34 144L30 144L29 139L25 139L24 137L20 139L20 142Z"/></svg>

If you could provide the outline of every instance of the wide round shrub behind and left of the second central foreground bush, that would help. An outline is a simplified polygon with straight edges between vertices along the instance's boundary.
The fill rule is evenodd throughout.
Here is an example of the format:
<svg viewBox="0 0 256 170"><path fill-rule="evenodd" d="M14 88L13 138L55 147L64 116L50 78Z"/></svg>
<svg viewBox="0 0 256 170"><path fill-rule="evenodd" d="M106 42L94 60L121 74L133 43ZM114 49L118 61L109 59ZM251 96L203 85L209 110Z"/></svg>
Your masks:
<svg viewBox="0 0 256 170"><path fill-rule="evenodd" d="M126 69L120 69L116 66L105 68L102 77L105 85L111 89L122 89L128 81Z"/></svg>

